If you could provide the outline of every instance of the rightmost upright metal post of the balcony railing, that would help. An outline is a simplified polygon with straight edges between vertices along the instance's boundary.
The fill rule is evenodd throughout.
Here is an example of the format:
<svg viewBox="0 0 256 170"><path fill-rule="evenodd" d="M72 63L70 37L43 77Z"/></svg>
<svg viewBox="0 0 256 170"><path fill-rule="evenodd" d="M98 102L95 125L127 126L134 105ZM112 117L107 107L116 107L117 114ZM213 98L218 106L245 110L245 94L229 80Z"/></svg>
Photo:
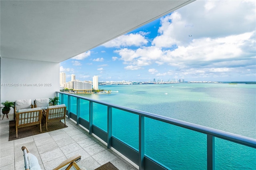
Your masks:
<svg viewBox="0 0 256 170"><path fill-rule="evenodd" d="M215 138L207 134L207 170L215 169Z"/></svg>

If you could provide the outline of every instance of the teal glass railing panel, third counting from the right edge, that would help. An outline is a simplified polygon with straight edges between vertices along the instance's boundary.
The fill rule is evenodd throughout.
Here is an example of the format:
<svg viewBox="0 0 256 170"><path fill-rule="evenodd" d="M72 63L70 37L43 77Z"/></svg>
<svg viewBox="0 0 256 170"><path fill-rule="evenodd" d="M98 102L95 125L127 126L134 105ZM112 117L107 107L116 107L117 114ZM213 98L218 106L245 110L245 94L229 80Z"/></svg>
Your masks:
<svg viewBox="0 0 256 170"><path fill-rule="evenodd" d="M112 109L112 135L136 150L139 149L139 116Z"/></svg>

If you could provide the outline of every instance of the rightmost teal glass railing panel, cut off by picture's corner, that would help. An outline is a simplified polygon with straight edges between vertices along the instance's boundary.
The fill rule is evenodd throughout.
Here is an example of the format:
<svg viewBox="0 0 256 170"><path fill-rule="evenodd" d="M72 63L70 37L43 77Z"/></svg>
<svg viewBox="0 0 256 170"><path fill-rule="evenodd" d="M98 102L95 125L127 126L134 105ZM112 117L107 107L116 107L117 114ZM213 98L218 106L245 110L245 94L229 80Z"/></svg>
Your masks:
<svg viewBox="0 0 256 170"><path fill-rule="evenodd" d="M255 170L256 149L215 138L216 170Z"/></svg>

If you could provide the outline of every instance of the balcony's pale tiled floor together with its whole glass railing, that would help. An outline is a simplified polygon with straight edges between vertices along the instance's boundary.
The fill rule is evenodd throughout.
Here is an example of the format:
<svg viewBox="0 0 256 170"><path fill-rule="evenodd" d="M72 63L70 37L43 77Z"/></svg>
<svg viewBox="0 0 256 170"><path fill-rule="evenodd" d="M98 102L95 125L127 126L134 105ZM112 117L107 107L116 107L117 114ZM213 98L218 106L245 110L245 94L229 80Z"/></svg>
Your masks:
<svg viewBox="0 0 256 170"><path fill-rule="evenodd" d="M68 93L56 92L56 95L60 97L61 103L67 106L68 128L8 141L9 120L13 117L2 120L1 169L18 170L24 167L21 150L23 145L37 156L41 168L46 170L52 169L76 153L82 155L82 160L78 162L80 168L89 170L107 162L112 162L120 170L184 168L213 170L225 166L230 169L255 167L256 139ZM124 117L120 114L125 115L128 121L122 121ZM132 123L126 125L129 121ZM154 131L149 131L149 126L154 125L165 128L160 131L161 129L155 127ZM129 130L120 131L124 128ZM178 133L172 132L173 130ZM170 137L166 138L162 135L164 131L170 133ZM151 140L149 134L157 136L157 140ZM188 137L190 136L188 134L192 134L194 138ZM132 140L126 136L132 136ZM176 140L177 138L179 140ZM167 145L158 146L158 140L166 140ZM175 157L165 152L166 147L171 147L168 146L169 140L172 140L172 145L176 148L181 148L186 158L182 158L184 154L182 152L175 153ZM184 145L189 149L183 149ZM241 148L239 152L237 148ZM220 155L221 150L226 150L226 155ZM236 154L232 154L234 150ZM160 160L159 155L164 158ZM220 162L223 158L235 162L240 159L245 163L223 164ZM201 163L189 163L195 159L200 160ZM172 160L182 160L182 163L177 166L172 164ZM168 166L168 164L172 165Z"/></svg>

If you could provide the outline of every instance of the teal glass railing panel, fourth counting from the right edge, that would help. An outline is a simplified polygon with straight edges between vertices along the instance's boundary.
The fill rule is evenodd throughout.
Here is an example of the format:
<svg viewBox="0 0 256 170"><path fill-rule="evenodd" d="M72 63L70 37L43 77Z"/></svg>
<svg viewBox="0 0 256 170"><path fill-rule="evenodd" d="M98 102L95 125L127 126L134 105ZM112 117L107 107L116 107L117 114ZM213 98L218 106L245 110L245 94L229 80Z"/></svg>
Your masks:
<svg viewBox="0 0 256 170"><path fill-rule="evenodd" d="M108 107L98 103L93 103L93 125L108 131Z"/></svg>

